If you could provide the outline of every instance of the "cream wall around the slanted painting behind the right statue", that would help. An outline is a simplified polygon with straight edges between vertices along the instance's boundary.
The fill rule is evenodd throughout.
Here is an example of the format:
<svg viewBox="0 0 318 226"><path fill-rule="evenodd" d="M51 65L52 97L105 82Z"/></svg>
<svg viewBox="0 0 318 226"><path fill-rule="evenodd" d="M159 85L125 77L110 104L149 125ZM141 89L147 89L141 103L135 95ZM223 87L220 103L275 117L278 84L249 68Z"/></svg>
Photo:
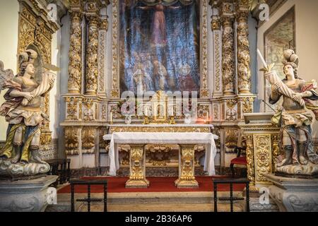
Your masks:
<svg viewBox="0 0 318 226"><path fill-rule="evenodd" d="M299 76L305 81L318 80L318 1L317 0L288 0L274 13L270 20L261 25L258 30L257 46L264 51L264 32L273 25L290 8L295 6L296 52L300 59ZM264 54L264 53L263 53ZM258 62L259 69L262 67ZM264 76L259 72L259 99L264 99ZM261 112L264 106L261 106ZM318 137L318 123L314 121L313 136Z"/></svg>

